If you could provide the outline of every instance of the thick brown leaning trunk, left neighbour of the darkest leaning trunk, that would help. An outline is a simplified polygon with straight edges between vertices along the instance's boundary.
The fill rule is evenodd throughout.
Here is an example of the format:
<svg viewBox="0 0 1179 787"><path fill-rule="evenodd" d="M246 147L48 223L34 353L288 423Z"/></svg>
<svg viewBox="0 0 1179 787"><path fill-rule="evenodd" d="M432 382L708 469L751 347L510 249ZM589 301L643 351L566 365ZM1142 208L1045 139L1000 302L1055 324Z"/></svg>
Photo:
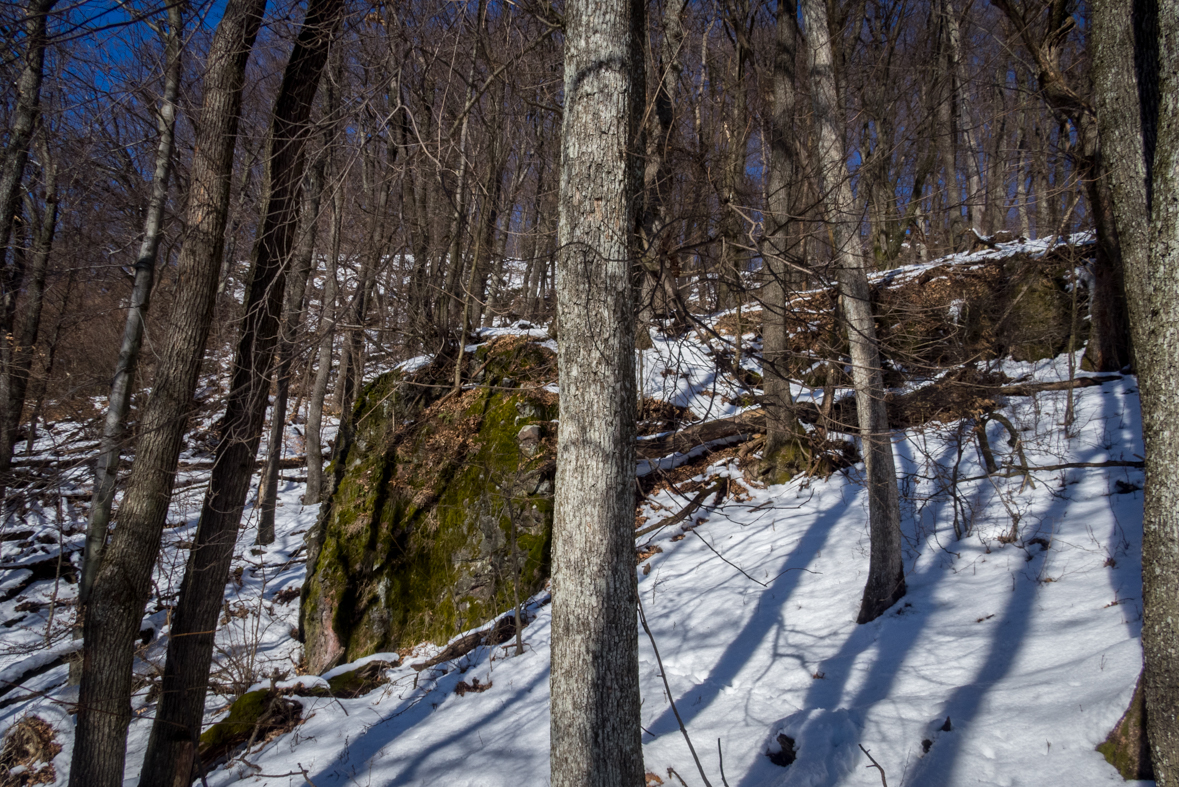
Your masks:
<svg viewBox="0 0 1179 787"><path fill-rule="evenodd" d="M136 462L116 517L118 527L104 550L90 603L83 610L86 647L70 787L123 785L131 721L132 648L151 589L152 567L212 320L245 64L264 8L265 0L230 0L209 52L190 176L187 239L177 264L184 286L177 291L151 398L144 409Z"/></svg>

